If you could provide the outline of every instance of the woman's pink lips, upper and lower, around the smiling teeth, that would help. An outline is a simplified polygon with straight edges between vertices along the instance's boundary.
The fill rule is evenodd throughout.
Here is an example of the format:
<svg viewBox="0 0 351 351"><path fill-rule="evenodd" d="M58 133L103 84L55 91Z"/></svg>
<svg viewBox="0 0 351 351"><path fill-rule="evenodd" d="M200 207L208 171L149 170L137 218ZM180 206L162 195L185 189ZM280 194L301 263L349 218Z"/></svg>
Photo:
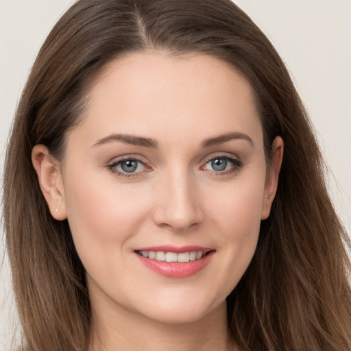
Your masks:
<svg viewBox="0 0 351 351"><path fill-rule="evenodd" d="M196 261L189 261L186 263L178 262L166 262L166 261L157 261L152 258L146 258L136 253L137 251L163 251L163 252L191 252L191 251L202 251L208 252L206 256L200 258ZM206 247L199 246L186 246L186 247L171 247L171 246L157 246L157 247L143 247L143 249L138 249L134 251L136 257L145 265L145 267L152 269L161 276L166 276L169 278L186 278L193 276L198 271L201 271L208 265L215 250L208 249Z"/></svg>

